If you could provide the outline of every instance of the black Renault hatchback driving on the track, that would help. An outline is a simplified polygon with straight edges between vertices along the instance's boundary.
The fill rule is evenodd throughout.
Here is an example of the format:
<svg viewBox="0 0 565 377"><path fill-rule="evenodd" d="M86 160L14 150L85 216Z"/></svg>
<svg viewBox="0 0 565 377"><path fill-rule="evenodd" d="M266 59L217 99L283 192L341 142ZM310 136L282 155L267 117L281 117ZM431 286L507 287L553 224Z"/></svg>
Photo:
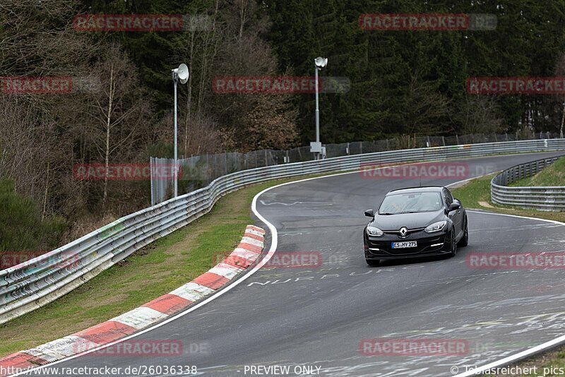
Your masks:
<svg viewBox="0 0 565 377"><path fill-rule="evenodd" d="M455 256L457 246L467 246L465 208L445 187L415 187L386 194L379 210L366 210L373 220L363 230L365 260L423 256Z"/></svg>

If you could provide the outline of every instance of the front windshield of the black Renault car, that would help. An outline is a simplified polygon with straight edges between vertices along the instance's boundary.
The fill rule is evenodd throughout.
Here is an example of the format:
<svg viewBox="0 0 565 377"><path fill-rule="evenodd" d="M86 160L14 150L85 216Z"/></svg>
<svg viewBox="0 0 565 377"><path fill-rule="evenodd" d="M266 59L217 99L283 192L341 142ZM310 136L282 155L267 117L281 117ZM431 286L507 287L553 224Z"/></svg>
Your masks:
<svg viewBox="0 0 565 377"><path fill-rule="evenodd" d="M398 215L441 210L439 193L399 193L386 196L379 207L379 215Z"/></svg>

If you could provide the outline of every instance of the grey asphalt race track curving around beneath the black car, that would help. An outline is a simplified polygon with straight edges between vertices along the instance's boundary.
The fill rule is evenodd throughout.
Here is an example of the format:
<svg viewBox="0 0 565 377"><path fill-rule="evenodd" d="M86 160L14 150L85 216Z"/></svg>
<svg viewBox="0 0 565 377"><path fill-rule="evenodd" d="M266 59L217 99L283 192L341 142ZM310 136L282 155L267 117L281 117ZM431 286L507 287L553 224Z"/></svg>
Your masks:
<svg viewBox="0 0 565 377"><path fill-rule="evenodd" d="M464 162L470 176L477 176L561 154ZM423 180L422 185L458 180ZM418 184L417 179L367 179L353 173L273 188L258 198L257 210L278 229L275 256L318 252L321 265L263 268L196 311L134 338L182 340L182 357L87 354L54 366L186 365L206 376L250 376L251 365L287 365L290 373L282 375L297 376L295 366L304 365L314 367L304 376L452 376L452 366L461 373L465 366L562 335L563 269L484 270L465 263L465 254L472 252L563 251L561 225L469 212L470 243L455 258L367 266L362 229L369 219L363 211L375 208L393 188ZM359 351L362 340L376 338L461 340L468 349L460 355L410 357ZM55 376L47 369L42 373ZM281 374L263 374L275 375Z"/></svg>

